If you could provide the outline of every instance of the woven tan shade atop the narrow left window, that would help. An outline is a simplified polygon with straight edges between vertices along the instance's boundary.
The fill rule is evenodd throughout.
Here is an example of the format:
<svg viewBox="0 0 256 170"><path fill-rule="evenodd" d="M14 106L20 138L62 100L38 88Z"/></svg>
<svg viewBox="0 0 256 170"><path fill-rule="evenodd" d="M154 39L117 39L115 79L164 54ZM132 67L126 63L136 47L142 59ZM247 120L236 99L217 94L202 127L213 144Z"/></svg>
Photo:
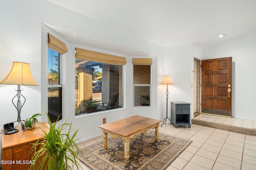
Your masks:
<svg viewBox="0 0 256 170"><path fill-rule="evenodd" d="M48 33L48 48L52 49L60 54L64 54L68 51L65 43L62 43L56 37Z"/></svg>

